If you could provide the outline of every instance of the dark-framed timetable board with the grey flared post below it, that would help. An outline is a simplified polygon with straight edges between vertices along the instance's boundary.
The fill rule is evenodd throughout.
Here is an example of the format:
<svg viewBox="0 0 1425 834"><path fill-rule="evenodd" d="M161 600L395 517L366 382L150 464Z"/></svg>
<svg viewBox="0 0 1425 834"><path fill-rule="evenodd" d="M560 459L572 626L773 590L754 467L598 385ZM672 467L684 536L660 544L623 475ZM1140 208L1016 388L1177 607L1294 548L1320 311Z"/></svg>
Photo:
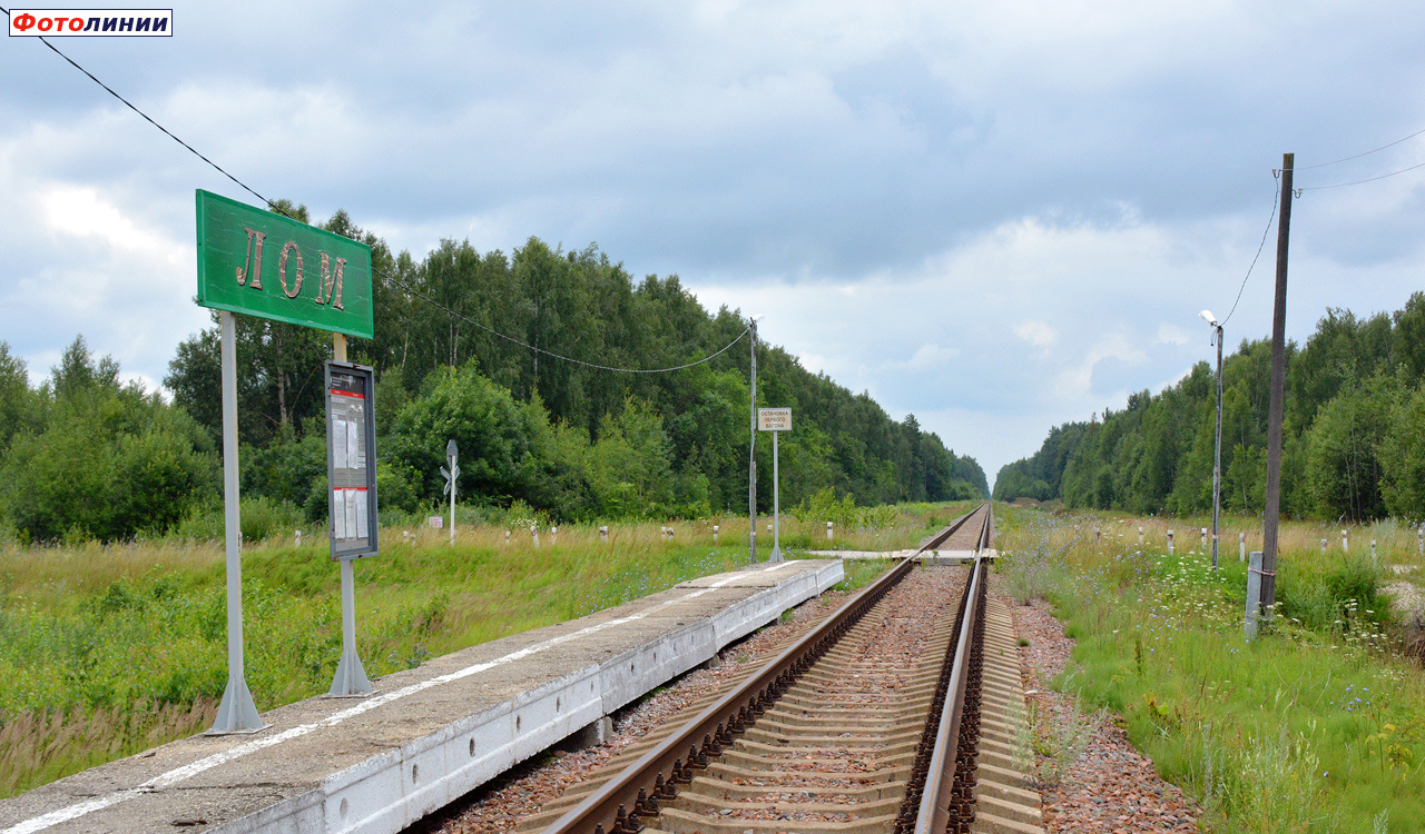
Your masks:
<svg viewBox="0 0 1425 834"><path fill-rule="evenodd" d="M331 485L332 559L342 565L342 659L329 696L370 695L356 653L356 578L352 561L379 549L376 517L376 414L372 369L326 363L326 478Z"/></svg>

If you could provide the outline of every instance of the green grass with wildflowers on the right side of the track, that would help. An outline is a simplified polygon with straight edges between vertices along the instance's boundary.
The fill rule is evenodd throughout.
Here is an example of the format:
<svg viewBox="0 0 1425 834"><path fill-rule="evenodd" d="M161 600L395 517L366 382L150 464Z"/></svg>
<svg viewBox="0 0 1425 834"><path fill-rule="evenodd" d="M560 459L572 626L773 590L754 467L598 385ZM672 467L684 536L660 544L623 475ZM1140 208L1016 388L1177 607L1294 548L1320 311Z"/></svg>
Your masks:
<svg viewBox="0 0 1425 834"><path fill-rule="evenodd" d="M1197 537L1166 554L1183 521L1147 519L1164 537L1143 548L1139 519L1119 521L1000 512L1015 595L1050 599L1077 639L1056 686L1121 716L1211 830L1425 830L1425 673L1395 652L1378 595L1384 564L1419 564L1414 532L1378 525L1372 564L1369 534L1342 552L1337 528L1322 554L1322 525L1284 525L1280 616L1247 642L1235 548L1213 571Z"/></svg>

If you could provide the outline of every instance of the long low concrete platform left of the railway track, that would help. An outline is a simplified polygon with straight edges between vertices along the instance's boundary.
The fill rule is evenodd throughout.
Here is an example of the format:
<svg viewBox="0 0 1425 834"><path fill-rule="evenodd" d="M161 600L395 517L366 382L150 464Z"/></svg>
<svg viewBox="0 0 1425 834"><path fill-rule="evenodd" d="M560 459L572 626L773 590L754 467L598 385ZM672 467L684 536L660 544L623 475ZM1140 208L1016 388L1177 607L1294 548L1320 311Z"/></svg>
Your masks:
<svg viewBox="0 0 1425 834"><path fill-rule="evenodd" d="M264 713L0 801L0 834L392 833L596 724L842 579L761 564Z"/></svg>

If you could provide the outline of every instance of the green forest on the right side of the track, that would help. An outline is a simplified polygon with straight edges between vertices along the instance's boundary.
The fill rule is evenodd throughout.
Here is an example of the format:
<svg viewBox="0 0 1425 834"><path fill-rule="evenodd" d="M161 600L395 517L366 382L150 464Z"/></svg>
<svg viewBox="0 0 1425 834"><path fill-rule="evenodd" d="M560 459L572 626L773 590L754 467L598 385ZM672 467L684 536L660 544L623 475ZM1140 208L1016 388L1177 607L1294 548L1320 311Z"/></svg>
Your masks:
<svg viewBox="0 0 1425 834"><path fill-rule="evenodd" d="M1223 363L1223 508L1260 514L1267 481L1271 342L1244 340ZM1159 394L1103 420L1049 431L1005 465L995 498L1062 500L1136 514L1213 505L1216 373L1198 363ZM1425 293L1395 313L1330 309L1287 346L1281 510L1295 518L1425 518Z"/></svg>

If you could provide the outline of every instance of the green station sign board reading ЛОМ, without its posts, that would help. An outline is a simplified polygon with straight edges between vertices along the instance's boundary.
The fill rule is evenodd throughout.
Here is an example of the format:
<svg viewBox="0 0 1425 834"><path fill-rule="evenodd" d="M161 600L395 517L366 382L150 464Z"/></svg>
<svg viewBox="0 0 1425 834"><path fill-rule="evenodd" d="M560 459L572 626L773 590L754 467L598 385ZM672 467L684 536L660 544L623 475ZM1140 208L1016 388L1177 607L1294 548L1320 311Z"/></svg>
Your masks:
<svg viewBox="0 0 1425 834"><path fill-rule="evenodd" d="M198 303L370 339L370 246L201 188Z"/></svg>

